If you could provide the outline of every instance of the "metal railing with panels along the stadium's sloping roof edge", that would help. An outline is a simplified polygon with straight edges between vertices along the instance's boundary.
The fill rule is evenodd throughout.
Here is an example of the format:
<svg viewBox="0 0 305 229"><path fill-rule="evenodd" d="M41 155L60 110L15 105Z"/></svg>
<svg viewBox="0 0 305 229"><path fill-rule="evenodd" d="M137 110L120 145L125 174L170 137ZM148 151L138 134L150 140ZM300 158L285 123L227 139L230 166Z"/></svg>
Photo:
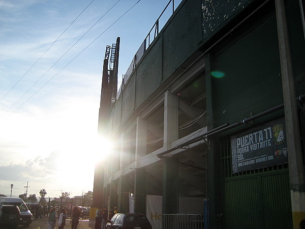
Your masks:
<svg viewBox="0 0 305 229"><path fill-rule="evenodd" d="M172 5L171 5L171 3L172 3ZM168 2L168 4L166 5L166 7L164 8L164 10L162 11L162 13L160 14L160 16L157 18L157 20L156 20L155 24L153 25L153 27L151 27L150 31L148 32L147 36L145 37L144 41L142 42L140 48L138 49L138 51L134 55L134 58L133 58L133 60L132 60L132 62L130 64L127 72L123 75L123 80L122 80L120 88L119 88L119 90L118 90L118 92L116 94L116 98L119 97L119 95L121 93L121 90L123 90L125 83L127 82L127 80L130 77L131 73L135 69L135 67L138 64L138 62L140 61L141 57L143 56L143 54L145 53L145 51L147 50L149 45L158 36L159 30L161 30L162 27L164 26L165 23L163 25L160 25L160 19L164 15L164 12L167 10L167 8L170 5L172 6L172 13L169 15L169 17L174 13L174 11L175 11L174 0L170 0ZM166 19L166 21L169 19L169 17ZM164 18L162 18L162 19L164 20Z"/></svg>

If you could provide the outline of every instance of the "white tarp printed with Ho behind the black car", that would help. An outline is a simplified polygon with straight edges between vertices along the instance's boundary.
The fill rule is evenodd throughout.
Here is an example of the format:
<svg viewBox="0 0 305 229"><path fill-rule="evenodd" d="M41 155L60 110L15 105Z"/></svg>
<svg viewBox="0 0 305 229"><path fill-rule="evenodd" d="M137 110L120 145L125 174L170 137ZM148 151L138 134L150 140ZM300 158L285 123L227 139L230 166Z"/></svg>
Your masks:
<svg viewBox="0 0 305 229"><path fill-rule="evenodd" d="M153 229L162 228L162 195L146 195L146 216Z"/></svg>

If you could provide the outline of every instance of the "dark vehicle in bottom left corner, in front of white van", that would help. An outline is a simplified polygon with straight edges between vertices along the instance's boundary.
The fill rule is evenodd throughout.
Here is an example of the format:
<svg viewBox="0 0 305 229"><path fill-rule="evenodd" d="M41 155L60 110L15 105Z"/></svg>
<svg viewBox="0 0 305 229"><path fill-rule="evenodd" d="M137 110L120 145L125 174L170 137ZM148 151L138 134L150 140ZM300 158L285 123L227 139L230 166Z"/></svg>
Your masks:
<svg viewBox="0 0 305 229"><path fill-rule="evenodd" d="M0 225L16 228L22 223L21 213L16 205L2 205L0 210ZM2 227L1 227L2 228Z"/></svg>

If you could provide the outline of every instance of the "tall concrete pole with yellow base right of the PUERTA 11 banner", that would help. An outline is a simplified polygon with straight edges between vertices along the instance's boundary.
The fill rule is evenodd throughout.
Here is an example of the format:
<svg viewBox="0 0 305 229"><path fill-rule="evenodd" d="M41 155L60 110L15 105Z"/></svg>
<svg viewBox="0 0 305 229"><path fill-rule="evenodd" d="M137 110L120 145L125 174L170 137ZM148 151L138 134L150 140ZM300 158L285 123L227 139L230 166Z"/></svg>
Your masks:
<svg viewBox="0 0 305 229"><path fill-rule="evenodd" d="M275 0L278 27L293 228L305 219L304 166L284 0Z"/></svg>

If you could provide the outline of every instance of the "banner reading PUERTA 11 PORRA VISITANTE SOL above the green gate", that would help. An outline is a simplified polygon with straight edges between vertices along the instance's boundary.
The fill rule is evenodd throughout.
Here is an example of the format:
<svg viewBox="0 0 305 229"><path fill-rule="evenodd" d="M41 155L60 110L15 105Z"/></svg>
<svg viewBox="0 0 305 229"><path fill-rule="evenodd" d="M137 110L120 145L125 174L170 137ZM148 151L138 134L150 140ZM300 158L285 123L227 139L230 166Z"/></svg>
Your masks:
<svg viewBox="0 0 305 229"><path fill-rule="evenodd" d="M284 117L231 136L231 150L233 174L287 163Z"/></svg>

